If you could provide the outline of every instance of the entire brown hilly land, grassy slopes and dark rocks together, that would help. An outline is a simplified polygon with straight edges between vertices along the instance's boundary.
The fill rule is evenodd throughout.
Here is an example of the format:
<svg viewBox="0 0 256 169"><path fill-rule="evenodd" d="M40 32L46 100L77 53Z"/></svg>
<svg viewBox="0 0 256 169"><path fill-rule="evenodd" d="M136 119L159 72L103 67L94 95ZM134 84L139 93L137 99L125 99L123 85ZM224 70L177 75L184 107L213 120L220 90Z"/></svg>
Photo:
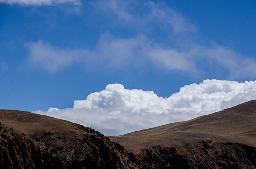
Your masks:
<svg viewBox="0 0 256 169"><path fill-rule="evenodd" d="M17 110L0 122L0 169L256 169L256 100L116 137Z"/></svg>

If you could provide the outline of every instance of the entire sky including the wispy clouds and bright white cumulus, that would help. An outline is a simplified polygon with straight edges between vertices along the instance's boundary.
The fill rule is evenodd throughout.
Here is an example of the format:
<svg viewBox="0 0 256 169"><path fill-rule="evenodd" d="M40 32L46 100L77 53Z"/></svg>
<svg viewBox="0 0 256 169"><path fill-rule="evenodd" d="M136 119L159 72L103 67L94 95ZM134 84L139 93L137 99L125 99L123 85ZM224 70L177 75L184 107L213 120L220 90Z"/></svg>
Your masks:
<svg viewBox="0 0 256 169"><path fill-rule="evenodd" d="M256 99L255 0L0 0L0 108L105 135Z"/></svg>

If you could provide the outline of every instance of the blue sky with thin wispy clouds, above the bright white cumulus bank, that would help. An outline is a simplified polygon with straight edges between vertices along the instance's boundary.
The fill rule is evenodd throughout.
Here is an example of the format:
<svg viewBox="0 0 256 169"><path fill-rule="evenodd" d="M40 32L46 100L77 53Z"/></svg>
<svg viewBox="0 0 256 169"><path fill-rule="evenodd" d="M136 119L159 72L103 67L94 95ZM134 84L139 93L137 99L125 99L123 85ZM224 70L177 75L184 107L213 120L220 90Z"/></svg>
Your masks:
<svg viewBox="0 0 256 169"><path fill-rule="evenodd" d="M70 108L108 84L169 97L256 79L254 0L0 0L0 108Z"/></svg>

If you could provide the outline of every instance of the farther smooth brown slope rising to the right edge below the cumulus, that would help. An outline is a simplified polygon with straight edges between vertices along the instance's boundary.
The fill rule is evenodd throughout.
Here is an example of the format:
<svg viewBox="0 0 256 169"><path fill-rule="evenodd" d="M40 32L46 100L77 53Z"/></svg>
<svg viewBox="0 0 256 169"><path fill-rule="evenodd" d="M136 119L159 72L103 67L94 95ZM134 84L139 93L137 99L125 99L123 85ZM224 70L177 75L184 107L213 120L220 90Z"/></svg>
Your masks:
<svg viewBox="0 0 256 169"><path fill-rule="evenodd" d="M251 136L256 134L256 100L252 100L220 112L204 115L189 121L171 123L155 128L124 134L125 137L197 132L220 136ZM247 134L246 134L247 133ZM250 134L249 134L250 133ZM249 135L248 135L249 134ZM249 137L256 144L254 137Z"/></svg>

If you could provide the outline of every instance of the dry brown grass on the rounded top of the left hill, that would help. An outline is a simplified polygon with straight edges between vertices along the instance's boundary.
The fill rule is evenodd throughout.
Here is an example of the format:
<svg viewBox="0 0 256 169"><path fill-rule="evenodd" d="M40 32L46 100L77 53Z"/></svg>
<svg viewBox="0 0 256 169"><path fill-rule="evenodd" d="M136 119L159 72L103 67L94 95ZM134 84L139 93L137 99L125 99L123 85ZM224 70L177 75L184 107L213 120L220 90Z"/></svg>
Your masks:
<svg viewBox="0 0 256 169"><path fill-rule="evenodd" d="M12 128L14 131L24 133L26 136L42 136L44 131L56 131L58 137L55 142L73 144L74 139L81 139L82 134L79 125L45 115L17 111L17 110L0 110L0 122ZM68 139L66 139L68 138ZM40 137L40 140L43 139Z"/></svg>

